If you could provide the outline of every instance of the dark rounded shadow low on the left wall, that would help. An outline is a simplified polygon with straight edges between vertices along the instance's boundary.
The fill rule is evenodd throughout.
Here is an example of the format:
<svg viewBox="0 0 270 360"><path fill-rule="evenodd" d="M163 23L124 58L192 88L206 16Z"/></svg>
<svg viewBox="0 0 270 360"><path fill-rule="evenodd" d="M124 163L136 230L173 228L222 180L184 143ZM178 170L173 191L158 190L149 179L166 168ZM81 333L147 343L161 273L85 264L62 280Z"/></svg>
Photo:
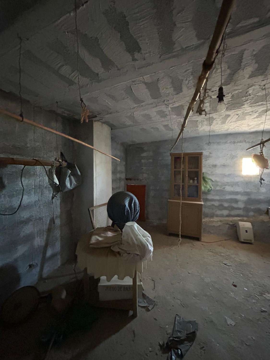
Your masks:
<svg viewBox="0 0 270 360"><path fill-rule="evenodd" d="M0 304L19 288L21 275L14 264L6 263L0 267Z"/></svg>

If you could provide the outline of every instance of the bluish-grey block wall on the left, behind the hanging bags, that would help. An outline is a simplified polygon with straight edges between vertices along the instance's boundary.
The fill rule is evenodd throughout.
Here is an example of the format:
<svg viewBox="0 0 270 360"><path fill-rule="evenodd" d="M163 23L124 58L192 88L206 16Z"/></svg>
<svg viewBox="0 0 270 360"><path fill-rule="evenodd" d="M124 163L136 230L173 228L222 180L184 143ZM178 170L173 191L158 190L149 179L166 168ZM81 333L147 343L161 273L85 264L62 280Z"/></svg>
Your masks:
<svg viewBox="0 0 270 360"><path fill-rule="evenodd" d="M0 107L19 114L19 99L0 91ZM23 102L26 118L93 144L93 123L80 124ZM0 303L18 287L35 284L51 270L75 256L76 240L87 229L87 207L93 206L93 150L31 125L0 115L0 156L52 160L63 151L77 162L83 184L55 199L43 167L26 167L21 208L11 216L0 215ZM23 166L0 166L0 212L13 212L21 199ZM47 167L47 170L49 168Z"/></svg>

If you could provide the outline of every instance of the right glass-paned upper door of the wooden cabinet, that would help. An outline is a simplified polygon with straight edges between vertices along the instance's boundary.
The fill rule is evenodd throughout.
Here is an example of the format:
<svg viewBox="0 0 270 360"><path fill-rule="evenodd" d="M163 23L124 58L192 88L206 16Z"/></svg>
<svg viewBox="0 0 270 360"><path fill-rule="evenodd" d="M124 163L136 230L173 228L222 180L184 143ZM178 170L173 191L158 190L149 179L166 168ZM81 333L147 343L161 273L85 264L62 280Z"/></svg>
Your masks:
<svg viewBox="0 0 270 360"><path fill-rule="evenodd" d="M199 197L199 157L188 156L187 168L187 198Z"/></svg>

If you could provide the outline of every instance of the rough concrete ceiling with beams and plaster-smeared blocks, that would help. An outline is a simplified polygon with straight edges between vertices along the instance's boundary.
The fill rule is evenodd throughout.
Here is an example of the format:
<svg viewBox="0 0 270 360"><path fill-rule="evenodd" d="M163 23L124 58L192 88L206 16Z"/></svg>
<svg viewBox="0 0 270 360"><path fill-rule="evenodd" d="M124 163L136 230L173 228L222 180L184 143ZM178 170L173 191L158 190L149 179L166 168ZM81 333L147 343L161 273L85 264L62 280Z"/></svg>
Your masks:
<svg viewBox="0 0 270 360"><path fill-rule="evenodd" d="M19 33L22 96L49 110L58 101L60 113L79 118L74 1L28 0L24 9L18 0L3 3L0 87L18 94ZM175 139L221 1L77 0L77 5L82 97L96 120L111 126L113 137L125 143ZM215 113L219 61L208 81L212 134L261 130L262 86L270 73L270 1L237 0L226 42L224 113ZM269 89L270 81L267 94ZM208 112L209 98L205 107ZM270 130L269 117L265 129ZM208 130L208 116L194 111L185 136Z"/></svg>

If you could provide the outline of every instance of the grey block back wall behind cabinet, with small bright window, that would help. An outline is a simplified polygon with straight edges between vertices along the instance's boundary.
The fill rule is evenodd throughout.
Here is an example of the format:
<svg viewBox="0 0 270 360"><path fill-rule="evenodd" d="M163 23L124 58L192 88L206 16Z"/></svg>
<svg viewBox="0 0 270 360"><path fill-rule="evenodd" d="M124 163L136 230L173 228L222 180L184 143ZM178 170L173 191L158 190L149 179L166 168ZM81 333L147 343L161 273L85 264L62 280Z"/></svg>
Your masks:
<svg viewBox="0 0 270 360"><path fill-rule="evenodd" d="M264 138L270 133L265 132ZM184 138L184 152L203 152L203 171L215 180L211 193L203 194L204 217L252 217L262 215L270 206L270 170L260 187L259 176L242 175L242 158L256 150L246 148L258 143L261 132L212 135ZM167 221L167 200L170 196L171 140L127 146L126 177L146 179L146 216L156 222ZM181 152L181 141L174 148ZM270 158L269 147L265 155Z"/></svg>

